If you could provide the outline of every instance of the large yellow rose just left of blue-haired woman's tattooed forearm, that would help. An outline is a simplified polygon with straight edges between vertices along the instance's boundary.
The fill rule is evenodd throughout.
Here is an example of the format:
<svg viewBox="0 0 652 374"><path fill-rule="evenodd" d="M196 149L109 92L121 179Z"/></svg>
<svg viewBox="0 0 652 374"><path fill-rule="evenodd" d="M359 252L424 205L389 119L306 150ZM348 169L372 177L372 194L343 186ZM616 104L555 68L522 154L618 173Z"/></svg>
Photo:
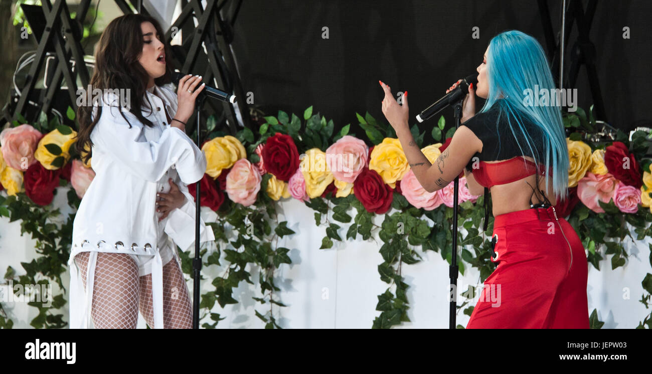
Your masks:
<svg viewBox="0 0 652 374"><path fill-rule="evenodd" d="M375 170L391 188L396 188L396 180L403 179L409 170L408 158L403 153L400 141L385 137L382 143L376 145L371 151L369 169Z"/></svg>

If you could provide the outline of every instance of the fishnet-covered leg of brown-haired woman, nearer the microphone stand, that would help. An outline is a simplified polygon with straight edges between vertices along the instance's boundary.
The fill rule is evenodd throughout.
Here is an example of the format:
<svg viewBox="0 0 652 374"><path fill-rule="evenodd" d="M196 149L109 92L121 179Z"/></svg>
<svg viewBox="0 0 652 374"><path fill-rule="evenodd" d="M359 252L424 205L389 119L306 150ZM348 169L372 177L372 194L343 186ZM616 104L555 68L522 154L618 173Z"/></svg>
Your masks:
<svg viewBox="0 0 652 374"><path fill-rule="evenodd" d="M140 277L140 313L154 328L152 274ZM163 266L163 328L192 328L188 287L175 258Z"/></svg>

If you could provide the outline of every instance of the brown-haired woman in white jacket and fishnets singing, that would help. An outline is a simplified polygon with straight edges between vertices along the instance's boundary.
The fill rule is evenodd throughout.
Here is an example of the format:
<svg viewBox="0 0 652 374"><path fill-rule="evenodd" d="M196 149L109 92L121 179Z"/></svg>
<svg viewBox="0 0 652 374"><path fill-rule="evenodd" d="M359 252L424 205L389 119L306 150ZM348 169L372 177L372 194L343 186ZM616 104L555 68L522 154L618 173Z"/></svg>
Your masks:
<svg viewBox="0 0 652 374"><path fill-rule="evenodd" d="M154 18L127 14L96 49L91 87L102 98L78 109L76 147L90 149L96 175L73 223L71 328L136 328L139 309L152 328L192 326L176 246L194 244L187 185L201 179L206 159L185 122L204 85L185 76L174 93L162 38ZM200 241L210 240L202 221Z"/></svg>

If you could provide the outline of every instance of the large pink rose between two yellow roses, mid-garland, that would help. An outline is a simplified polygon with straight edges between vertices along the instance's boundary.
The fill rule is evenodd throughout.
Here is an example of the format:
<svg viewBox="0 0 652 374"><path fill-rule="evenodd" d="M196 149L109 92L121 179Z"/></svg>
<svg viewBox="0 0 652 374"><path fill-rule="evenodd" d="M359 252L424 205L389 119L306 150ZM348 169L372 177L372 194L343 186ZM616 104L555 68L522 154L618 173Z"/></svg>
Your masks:
<svg viewBox="0 0 652 374"><path fill-rule="evenodd" d="M353 183L367 165L368 152L364 141L345 135L326 150L326 164L335 179Z"/></svg>

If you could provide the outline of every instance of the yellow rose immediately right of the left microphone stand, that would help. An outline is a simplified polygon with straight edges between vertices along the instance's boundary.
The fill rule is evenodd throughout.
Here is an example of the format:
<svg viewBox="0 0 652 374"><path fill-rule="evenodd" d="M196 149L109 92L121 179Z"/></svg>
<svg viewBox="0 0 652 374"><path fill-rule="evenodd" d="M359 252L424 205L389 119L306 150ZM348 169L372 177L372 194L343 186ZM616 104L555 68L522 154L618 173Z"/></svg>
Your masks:
<svg viewBox="0 0 652 374"><path fill-rule="evenodd" d="M240 141L230 135L215 137L201 147L206 155L206 174L216 179L222 169L233 166L237 160L246 158L246 151Z"/></svg>

